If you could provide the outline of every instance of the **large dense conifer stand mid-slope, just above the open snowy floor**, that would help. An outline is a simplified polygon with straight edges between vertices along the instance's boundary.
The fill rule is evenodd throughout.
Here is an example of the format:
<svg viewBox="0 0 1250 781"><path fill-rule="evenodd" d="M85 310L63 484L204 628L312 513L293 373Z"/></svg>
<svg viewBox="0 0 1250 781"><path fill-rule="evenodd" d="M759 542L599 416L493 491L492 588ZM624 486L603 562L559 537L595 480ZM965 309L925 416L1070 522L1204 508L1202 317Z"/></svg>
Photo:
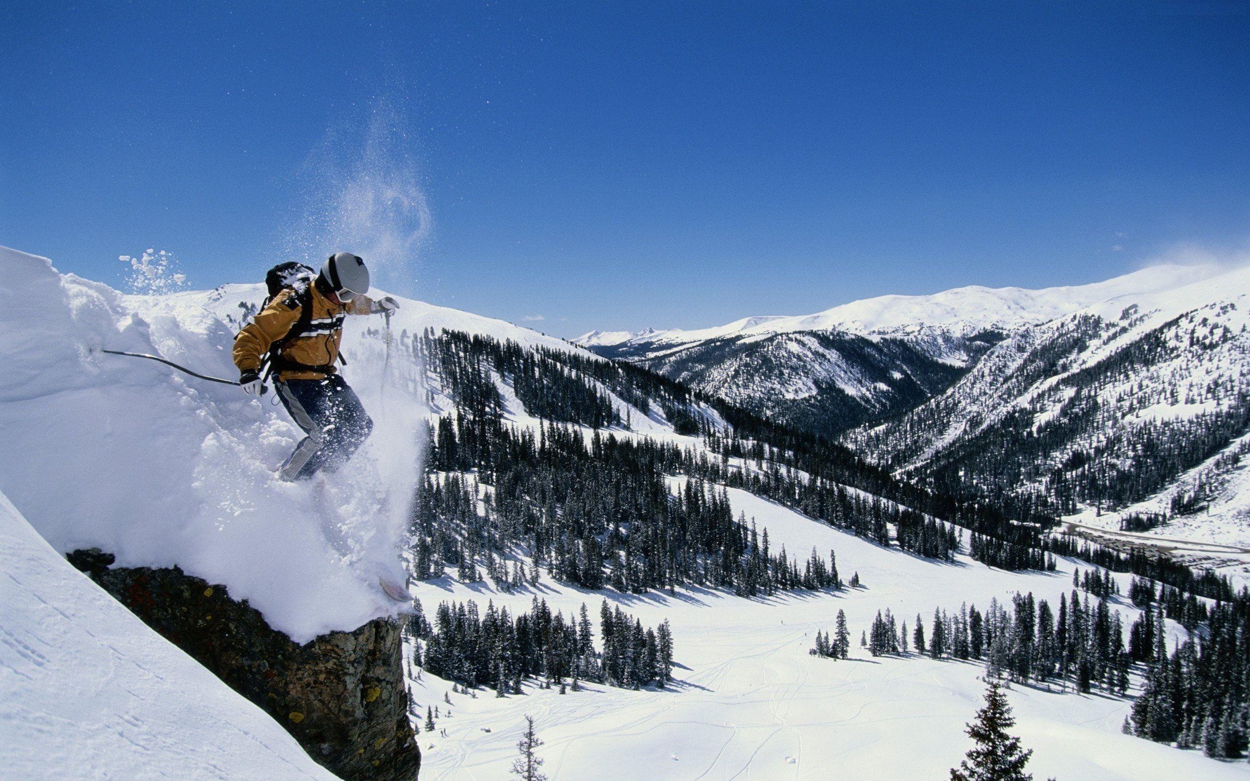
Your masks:
<svg viewBox="0 0 1250 781"><path fill-rule="evenodd" d="M441 419L412 522L416 576L445 565L461 580L484 567L500 587L526 580L518 549L585 589L641 594L681 584L731 587L742 596L838 589L836 560L815 551L800 564L771 550L746 517L734 517L724 489L666 475L695 461L690 451L541 424L538 432L499 421ZM475 476L464 472L475 471ZM438 474L450 472L450 474ZM489 491L482 485L489 485ZM511 557L511 562L509 562Z"/></svg>

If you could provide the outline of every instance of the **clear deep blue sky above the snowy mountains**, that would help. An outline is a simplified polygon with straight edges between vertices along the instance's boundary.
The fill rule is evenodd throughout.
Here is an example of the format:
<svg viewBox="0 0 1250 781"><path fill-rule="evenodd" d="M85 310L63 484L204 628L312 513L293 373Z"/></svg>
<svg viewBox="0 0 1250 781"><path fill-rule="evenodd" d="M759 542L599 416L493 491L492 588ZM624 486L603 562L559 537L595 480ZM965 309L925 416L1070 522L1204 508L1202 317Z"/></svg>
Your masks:
<svg viewBox="0 0 1250 781"><path fill-rule="evenodd" d="M259 280L389 181L392 289L565 336L1094 281L1245 246L1248 10L18 0L0 244Z"/></svg>

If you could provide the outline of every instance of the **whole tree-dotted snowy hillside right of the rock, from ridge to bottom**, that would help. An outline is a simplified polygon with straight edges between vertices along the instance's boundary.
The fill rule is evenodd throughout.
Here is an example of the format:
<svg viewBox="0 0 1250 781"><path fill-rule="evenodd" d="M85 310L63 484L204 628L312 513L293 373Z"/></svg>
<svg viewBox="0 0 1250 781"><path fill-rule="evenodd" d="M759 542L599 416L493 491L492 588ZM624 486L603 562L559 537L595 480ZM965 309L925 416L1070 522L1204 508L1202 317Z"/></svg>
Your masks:
<svg viewBox="0 0 1250 781"><path fill-rule="evenodd" d="M836 765L881 779L941 775L981 664L1041 676L1012 695L1039 775L1240 777L1240 766L1121 732L1145 674L1135 660L1155 637L1181 642L1180 622L1194 616L1196 629L1205 600L1168 590L1165 629L1150 629L1148 642L1159 604L1141 581L1091 579L1062 557L1054 571L1045 561L988 567L969 555L968 530L848 486L901 490L815 437L629 365L484 334L425 332L412 349L434 429L414 530L425 620L410 637L431 777L502 772L525 715L538 717L552 774L809 779ZM814 475L846 482L822 490ZM1081 581L1074 571L1085 591L1065 597ZM1069 651L1054 650L1055 605ZM624 645L605 621L622 609L635 626ZM812 655L839 620L860 664ZM910 640L885 642L918 627L924 654ZM1131 650L1121 645L1130 640ZM1086 690L1099 696L1075 694ZM1238 711L1190 717L1208 714L1221 722ZM894 760L880 724L899 720L914 729ZM1156 735L1152 724L1142 735ZM605 765L606 755L631 761Z"/></svg>

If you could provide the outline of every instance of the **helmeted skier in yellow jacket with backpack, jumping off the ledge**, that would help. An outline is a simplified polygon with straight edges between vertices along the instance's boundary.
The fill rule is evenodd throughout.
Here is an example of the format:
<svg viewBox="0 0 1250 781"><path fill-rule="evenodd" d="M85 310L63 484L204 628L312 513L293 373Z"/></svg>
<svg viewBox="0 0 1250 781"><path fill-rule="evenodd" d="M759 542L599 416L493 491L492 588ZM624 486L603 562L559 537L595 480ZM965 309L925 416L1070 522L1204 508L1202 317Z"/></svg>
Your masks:
<svg viewBox="0 0 1250 781"><path fill-rule="evenodd" d="M270 299L235 337L234 362L244 392L261 394L268 356L266 376L274 377L278 397L305 434L278 474L306 480L341 466L374 427L335 366L346 364L339 352L344 317L390 315L399 304L365 295L369 269L350 252L331 255L315 277L308 266L286 262L274 266L265 281Z"/></svg>

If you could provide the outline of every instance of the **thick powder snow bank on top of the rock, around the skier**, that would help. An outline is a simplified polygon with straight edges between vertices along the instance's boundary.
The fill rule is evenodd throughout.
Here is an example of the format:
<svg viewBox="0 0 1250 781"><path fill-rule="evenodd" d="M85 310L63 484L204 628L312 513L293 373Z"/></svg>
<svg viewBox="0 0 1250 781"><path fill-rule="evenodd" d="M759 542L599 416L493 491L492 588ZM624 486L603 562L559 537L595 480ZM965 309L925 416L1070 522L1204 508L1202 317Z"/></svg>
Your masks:
<svg viewBox="0 0 1250 781"><path fill-rule="evenodd" d="M99 352L151 352L232 379L236 324L202 295L125 296L8 249L0 265L0 490L56 550L181 566L296 642L394 610L376 581L402 580L424 410L416 366L400 356L384 401L380 317L348 320L345 375L376 426L331 479L328 510L309 485L274 479L301 432L272 395Z"/></svg>

